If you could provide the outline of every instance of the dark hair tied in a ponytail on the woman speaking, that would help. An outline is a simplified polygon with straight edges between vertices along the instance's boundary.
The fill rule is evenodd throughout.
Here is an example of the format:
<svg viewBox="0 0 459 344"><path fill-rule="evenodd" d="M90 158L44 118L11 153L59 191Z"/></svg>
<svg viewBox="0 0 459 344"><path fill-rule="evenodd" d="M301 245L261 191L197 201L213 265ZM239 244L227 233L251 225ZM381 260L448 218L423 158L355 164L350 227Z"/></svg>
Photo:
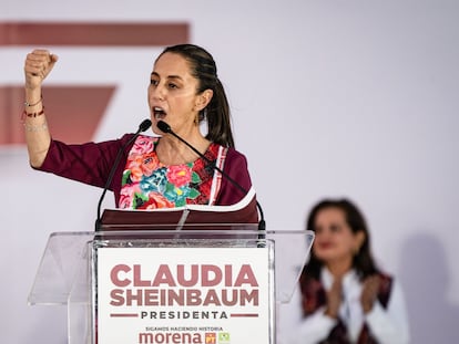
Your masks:
<svg viewBox="0 0 459 344"><path fill-rule="evenodd" d="M198 81L197 93L205 90L214 92L211 103L198 115L198 122L207 119L206 138L225 147L234 147L230 104L218 80L214 58L206 50L194 44L167 46L160 56L167 52L178 54L188 61L191 74Z"/></svg>

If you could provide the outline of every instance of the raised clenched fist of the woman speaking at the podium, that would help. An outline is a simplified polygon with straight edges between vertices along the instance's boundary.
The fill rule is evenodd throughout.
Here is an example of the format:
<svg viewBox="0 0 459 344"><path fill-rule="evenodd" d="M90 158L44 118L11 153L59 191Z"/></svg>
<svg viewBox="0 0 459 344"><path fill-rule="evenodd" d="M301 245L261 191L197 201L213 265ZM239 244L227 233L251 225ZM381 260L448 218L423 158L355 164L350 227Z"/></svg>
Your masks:
<svg viewBox="0 0 459 344"><path fill-rule="evenodd" d="M35 90L41 87L43 80L53 69L58 56L48 50L33 50L27 54L24 63L26 88Z"/></svg>

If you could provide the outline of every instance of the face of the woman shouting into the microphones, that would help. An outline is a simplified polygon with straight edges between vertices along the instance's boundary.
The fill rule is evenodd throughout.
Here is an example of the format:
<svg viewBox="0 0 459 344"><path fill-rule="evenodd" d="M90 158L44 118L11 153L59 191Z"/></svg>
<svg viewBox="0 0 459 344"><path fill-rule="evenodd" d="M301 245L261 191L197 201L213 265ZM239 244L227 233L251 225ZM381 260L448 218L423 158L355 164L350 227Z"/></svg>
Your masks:
<svg viewBox="0 0 459 344"><path fill-rule="evenodd" d="M188 62L178 54L164 53L154 64L149 85L149 105L153 131L159 121L166 122L174 132L186 133L203 106L203 95L196 94L198 81L190 72Z"/></svg>

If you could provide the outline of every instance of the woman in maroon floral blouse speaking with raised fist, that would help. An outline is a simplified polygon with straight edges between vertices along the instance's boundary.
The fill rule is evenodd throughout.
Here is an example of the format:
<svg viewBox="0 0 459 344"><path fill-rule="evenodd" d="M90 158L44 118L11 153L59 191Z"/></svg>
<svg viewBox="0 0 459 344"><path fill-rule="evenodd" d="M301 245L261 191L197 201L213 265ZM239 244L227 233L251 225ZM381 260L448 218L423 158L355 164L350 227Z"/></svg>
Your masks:
<svg viewBox="0 0 459 344"><path fill-rule="evenodd" d="M150 75L151 122L135 134L102 143L69 145L52 138L42 83L57 62L49 51L33 50L24 63L22 121L34 169L112 190L121 209L228 206L253 191L247 160L234 148L230 106L214 59L203 48L166 48ZM140 134L150 125L161 138ZM253 211L257 218L255 207Z"/></svg>

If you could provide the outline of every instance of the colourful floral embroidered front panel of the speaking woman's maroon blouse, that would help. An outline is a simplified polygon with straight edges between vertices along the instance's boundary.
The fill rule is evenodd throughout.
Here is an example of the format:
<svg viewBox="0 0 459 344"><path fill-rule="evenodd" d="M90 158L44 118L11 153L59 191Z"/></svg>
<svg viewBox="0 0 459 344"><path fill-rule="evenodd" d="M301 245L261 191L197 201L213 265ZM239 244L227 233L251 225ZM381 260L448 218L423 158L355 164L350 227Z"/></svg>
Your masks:
<svg viewBox="0 0 459 344"><path fill-rule="evenodd" d="M174 208L190 204L214 205L221 174L198 158L193 163L166 166L157 158L157 137L139 136L129 153L119 207L122 209ZM211 144L204 156L220 169L227 148Z"/></svg>

